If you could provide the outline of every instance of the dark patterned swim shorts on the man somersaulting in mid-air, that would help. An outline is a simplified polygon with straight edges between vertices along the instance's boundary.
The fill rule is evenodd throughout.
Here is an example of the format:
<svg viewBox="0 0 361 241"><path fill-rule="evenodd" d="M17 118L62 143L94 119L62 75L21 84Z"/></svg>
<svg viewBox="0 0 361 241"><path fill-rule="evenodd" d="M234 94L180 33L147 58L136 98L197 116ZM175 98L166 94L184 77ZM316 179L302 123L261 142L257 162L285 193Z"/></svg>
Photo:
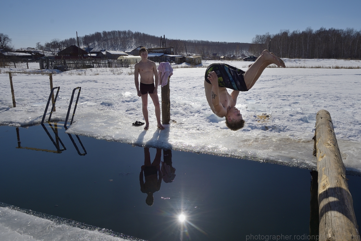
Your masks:
<svg viewBox="0 0 361 241"><path fill-rule="evenodd" d="M242 69L237 69L228 64L211 64L205 71L204 76L205 81L207 81L208 83L210 83L210 81L207 79L207 77L208 73L211 71L216 72L219 87L226 87L228 89L238 91L248 91L243 77L245 72Z"/></svg>

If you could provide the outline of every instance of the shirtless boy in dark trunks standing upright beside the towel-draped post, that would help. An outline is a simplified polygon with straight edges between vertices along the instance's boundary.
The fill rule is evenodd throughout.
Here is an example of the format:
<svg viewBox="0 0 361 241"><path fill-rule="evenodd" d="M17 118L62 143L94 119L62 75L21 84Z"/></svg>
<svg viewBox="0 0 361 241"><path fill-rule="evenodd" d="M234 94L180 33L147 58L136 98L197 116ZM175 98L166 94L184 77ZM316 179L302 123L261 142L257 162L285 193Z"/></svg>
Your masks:
<svg viewBox="0 0 361 241"><path fill-rule="evenodd" d="M139 50L139 55L142 57L138 63L134 65L134 82L138 96L142 96L142 111L145 120L144 130L149 128L148 120L148 94L153 100L155 107L157 126L160 129L164 129L164 126L160 123L160 105L158 99L158 72L156 63L148 60L148 50L142 47ZM138 82L138 74L140 74L140 90ZM155 81L153 79L155 76Z"/></svg>

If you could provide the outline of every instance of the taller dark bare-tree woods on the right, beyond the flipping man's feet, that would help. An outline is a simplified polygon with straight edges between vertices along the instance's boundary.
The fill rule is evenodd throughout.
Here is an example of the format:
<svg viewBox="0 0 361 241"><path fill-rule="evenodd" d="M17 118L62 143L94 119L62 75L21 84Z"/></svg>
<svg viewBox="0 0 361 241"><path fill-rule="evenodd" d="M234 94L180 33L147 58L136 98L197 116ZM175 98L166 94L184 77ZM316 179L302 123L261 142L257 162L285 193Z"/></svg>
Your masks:
<svg viewBox="0 0 361 241"><path fill-rule="evenodd" d="M271 42L270 42L271 40ZM281 30L278 34L256 35L249 52L258 56L269 49L290 59L361 59L361 31L352 28L304 31Z"/></svg>

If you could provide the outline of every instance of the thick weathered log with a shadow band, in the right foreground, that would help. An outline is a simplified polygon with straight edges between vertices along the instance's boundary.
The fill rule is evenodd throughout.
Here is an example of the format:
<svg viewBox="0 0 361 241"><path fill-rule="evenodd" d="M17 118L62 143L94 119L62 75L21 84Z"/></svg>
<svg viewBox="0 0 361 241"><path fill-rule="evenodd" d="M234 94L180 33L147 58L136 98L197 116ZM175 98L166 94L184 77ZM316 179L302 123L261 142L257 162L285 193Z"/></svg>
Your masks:
<svg viewBox="0 0 361 241"><path fill-rule="evenodd" d="M330 113L316 115L319 240L360 240Z"/></svg>

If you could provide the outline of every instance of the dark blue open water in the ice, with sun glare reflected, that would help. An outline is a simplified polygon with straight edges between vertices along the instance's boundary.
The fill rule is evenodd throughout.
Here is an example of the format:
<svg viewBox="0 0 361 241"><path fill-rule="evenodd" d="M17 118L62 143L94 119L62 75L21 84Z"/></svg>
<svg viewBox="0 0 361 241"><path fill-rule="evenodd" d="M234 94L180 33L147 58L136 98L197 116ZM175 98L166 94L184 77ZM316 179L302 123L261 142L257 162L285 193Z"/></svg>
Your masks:
<svg viewBox="0 0 361 241"><path fill-rule="evenodd" d="M45 129L55 144L42 126L18 128L19 145L33 148L24 149L16 148L15 127L0 126L0 202L145 240L309 234L309 170L154 148L149 148L149 162L148 148L82 136L87 154L79 155L64 128L57 130L66 150L56 153L55 133L48 124ZM175 168L176 176L173 182L161 181L149 206L140 173L142 165L157 167L160 161ZM159 188L154 177L148 176L153 191ZM348 178L360 223L361 177ZM180 214L186 216L183 223Z"/></svg>

